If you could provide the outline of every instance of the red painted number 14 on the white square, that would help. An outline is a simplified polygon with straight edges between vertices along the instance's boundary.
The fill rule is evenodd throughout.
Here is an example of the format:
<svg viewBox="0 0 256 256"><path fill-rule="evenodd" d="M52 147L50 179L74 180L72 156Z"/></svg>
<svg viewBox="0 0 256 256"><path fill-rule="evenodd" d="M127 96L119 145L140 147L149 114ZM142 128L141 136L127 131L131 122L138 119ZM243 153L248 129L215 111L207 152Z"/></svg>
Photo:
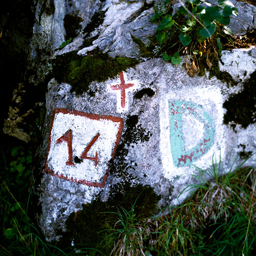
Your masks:
<svg viewBox="0 0 256 256"><path fill-rule="evenodd" d="M99 133L97 133L93 139L91 140L91 142L88 144L88 146L86 147L86 149L83 151L83 153L81 154L80 158L82 159L88 159L88 160L93 160L95 163L95 167L97 166L98 161L100 160L98 158L98 154L97 151L95 153L95 157L88 157L87 153L89 152L89 150L91 149L92 145L95 143L95 141L99 138ZM68 157L68 161L66 162L67 165L75 165L73 163L73 152L72 152L72 130L70 129L69 131L67 131L65 134L63 134L60 138L58 138L56 140L56 144L62 143L63 141L67 142L68 145L68 153L69 153L69 157Z"/></svg>

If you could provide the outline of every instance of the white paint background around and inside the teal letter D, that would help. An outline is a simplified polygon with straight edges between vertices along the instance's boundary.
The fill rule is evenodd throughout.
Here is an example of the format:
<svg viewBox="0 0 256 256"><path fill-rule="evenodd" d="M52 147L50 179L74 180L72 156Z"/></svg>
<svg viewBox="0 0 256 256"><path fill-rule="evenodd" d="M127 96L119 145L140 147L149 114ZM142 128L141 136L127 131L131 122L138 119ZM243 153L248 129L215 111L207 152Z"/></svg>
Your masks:
<svg viewBox="0 0 256 256"><path fill-rule="evenodd" d="M169 121L169 100L180 100L188 102L197 102L202 108L209 114L212 119L215 134L214 134L214 143L212 144L210 150L202 155L199 159L193 162L191 166L180 166L177 167L174 165L173 156L171 153L170 146L170 121ZM195 166L198 166L202 169L206 169L211 166L211 159L214 154L221 157L225 155L225 137L224 137L224 127L222 125L223 120L223 98L221 94L221 89L217 86L211 86L204 88L198 86L197 88L188 89L185 88L183 92L181 91L171 91L166 95L163 93L160 99L160 152L163 165L163 175L165 178L171 180L177 176L183 176L191 173L195 173ZM191 116L192 118L193 116ZM189 118L190 119L190 118ZM194 124L191 123L191 127L198 123L197 132L193 136L191 134L184 134L184 139L188 138L191 141L186 141L185 145L187 147L194 146L196 141L201 138L204 133L204 126L195 121ZM183 129L183 132L189 131L189 123L186 125L186 129ZM197 136L197 137L196 137ZM220 152L221 149L221 152ZM218 159L217 159L218 160ZM179 183L179 179L176 181ZM177 186L178 184L176 184Z"/></svg>

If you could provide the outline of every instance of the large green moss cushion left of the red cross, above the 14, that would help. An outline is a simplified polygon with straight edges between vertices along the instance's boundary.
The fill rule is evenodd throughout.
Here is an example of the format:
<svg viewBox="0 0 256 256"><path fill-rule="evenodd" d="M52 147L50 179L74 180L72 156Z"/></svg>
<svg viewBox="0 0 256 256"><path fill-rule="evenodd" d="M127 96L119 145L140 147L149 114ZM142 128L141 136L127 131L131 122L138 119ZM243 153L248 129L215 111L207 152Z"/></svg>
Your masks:
<svg viewBox="0 0 256 256"><path fill-rule="evenodd" d="M70 52L57 56L53 60L52 76L59 83L71 84L71 91L77 94L87 92L91 82L103 82L109 78L114 78L121 71L138 63L138 60L132 58L111 58L106 53L85 57L76 53Z"/></svg>

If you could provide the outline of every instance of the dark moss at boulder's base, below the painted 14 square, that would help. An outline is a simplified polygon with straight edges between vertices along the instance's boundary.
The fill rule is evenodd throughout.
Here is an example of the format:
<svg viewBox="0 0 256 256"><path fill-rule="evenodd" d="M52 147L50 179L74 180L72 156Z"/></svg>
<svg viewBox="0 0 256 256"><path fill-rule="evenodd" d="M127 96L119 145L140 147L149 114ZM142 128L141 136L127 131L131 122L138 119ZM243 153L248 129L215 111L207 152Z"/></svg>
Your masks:
<svg viewBox="0 0 256 256"><path fill-rule="evenodd" d="M136 201L137 200L137 201ZM118 221L117 209L121 207L131 211L135 203L134 214L137 220L148 218L156 210L159 196L150 186L129 186L125 188L125 193L115 193L108 201L102 202L95 199L90 204L85 204L78 212L73 212L66 221L67 232L63 234L65 244L71 244L79 248L95 248L102 251L105 255L110 255L114 240L108 237L113 231ZM116 225L116 229L122 226ZM105 239L105 240L104 240ZM102 242L104 240L104 242ZM88 250L89 255L98 255L96 250Z"/></svg>

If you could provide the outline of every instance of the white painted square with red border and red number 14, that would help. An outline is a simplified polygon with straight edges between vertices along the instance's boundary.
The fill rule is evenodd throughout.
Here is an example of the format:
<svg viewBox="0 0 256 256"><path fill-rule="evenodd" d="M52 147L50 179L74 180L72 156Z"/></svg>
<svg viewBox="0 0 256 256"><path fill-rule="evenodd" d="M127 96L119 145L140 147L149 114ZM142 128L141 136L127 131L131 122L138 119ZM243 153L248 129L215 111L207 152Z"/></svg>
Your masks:
<svg viewBox="0 0 256 256"><path fill-rule="evenodd" d="M45 172L60 179L104 187L123 119L55 109L48 139Z"/></svg>

